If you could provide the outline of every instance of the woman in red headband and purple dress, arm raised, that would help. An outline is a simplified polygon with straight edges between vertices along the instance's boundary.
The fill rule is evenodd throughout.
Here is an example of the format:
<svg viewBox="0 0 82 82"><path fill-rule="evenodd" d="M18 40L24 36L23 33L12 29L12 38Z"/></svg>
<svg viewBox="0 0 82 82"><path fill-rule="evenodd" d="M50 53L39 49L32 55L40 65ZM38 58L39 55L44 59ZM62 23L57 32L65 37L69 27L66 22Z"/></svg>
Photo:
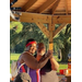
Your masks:
<svg viewBox="0 0 82 82"><path fill-rule="evenodd" d="M36 74L36 70L43 68L48 59L52 56L51 51L49 50L46 58L37 61L33 56L36 51L36 40L28 39L25 45L25 51L17 60L19 72L27 72L32 78L32 82L40 82L39 70L37 71L38 74Z"/></svg>

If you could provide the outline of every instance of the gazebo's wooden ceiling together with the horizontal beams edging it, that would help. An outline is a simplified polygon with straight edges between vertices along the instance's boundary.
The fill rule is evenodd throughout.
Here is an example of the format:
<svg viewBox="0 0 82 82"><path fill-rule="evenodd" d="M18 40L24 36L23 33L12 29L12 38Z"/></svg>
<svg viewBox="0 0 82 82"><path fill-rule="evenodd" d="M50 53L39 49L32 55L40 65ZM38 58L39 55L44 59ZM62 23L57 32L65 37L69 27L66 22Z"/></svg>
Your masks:
<svg viewBox="0 0 82 82"><path fill-rule="evenodd" d="M71 23L71 0L17 0L14 7L21 8L21 22Z"/></svg>

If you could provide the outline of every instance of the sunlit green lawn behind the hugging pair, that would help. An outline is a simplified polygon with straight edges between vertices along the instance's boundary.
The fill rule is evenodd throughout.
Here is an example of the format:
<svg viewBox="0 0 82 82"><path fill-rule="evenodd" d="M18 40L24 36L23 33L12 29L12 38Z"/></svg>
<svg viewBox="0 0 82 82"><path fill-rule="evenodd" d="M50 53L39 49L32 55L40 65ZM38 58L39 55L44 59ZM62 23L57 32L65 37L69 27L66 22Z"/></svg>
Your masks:
<svg viewBox="0 0 82 82"><path fill-rule="evenodd" d="M19 59L20 55L21 54L10 54L10 73L11 73L11 63L12 63L12 60L16 61ZM57 61L60 61L57 56L54 56L54 57L56 58ZM61 62L59 62L59 69L58 69L57 72L59 72L60 69L67 69L67 68L68 68L68 63L61 63Z"/></svg>

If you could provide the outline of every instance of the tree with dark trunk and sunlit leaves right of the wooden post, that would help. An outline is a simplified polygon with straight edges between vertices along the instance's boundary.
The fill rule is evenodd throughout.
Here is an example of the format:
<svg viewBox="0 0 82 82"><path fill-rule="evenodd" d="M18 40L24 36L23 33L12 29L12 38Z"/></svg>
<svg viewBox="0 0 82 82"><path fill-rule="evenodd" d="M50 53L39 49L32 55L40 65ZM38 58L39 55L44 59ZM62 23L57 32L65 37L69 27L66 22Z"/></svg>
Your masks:
<svg viewBox="0 0 82 82"><path fill-rule="evenodd" d="M60 24L56 24L56 28L58 28ZM71 49L71 24L68 24L62 31L56 35L54 38L54 49L58 55L58 50L61 51L61 61L68 61L68 54Z"/></svg>

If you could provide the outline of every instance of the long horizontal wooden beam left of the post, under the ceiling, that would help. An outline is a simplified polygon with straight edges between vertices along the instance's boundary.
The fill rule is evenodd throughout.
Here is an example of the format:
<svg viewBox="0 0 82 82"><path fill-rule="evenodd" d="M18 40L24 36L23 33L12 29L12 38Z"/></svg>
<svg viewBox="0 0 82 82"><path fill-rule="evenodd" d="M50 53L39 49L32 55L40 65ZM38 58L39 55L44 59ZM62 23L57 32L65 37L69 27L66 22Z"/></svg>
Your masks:
<svg viewBox="0 0 82 82"><path fill-rule="evenodd" d="M12 17L10 17L10 21L14 21L14 20ZM50 23L51 16L44 15L44 14L37 14L37 13L22 12L22 15L20 16L20 21L21 22L28 22L28 23L35 23L35 22Z"/></svg>

